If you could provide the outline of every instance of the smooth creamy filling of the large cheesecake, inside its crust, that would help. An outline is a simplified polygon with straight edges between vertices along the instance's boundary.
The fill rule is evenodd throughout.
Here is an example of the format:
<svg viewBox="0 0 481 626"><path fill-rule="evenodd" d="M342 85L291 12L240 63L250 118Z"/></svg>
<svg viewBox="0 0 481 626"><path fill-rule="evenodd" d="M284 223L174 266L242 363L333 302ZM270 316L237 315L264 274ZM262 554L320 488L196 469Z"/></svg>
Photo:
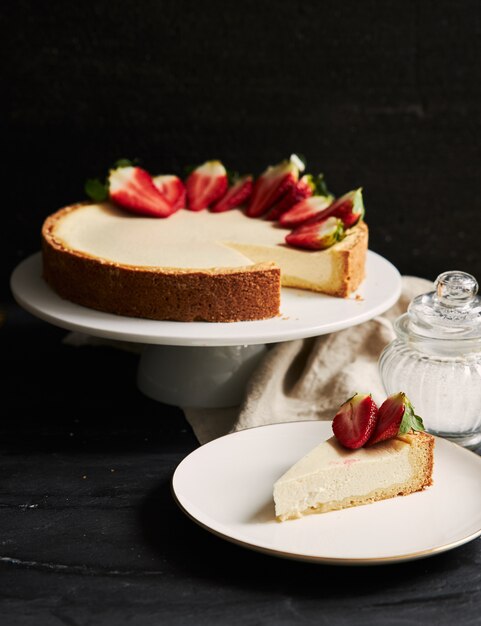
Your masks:
<svg viewBox="0 0 481 626"><path fill-rule="evenodd" d="M288 232L236 209L225 213L181 209L168 218L151 218L92 204L64 215L53 235L70 249L124 265L207 269L274 262L285 279L329 281L334 271L331 250L287 246Z"/></svg>

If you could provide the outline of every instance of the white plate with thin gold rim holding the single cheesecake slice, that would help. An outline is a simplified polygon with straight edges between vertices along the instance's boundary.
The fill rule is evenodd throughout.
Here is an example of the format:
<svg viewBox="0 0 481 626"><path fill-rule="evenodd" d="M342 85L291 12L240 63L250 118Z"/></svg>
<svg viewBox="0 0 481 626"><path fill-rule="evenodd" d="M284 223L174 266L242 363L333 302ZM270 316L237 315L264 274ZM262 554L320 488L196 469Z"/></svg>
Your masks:
<svg viewBox="0 0 481 626"><path fill-rule="evenodd" d="M260 426L197 448L177 467L181 509L224 539L260 552L345 565L406 561L481 535L481 457L436 438L434 484L409 496L277 522L272 486L332 435L330 422Z"/></svg>

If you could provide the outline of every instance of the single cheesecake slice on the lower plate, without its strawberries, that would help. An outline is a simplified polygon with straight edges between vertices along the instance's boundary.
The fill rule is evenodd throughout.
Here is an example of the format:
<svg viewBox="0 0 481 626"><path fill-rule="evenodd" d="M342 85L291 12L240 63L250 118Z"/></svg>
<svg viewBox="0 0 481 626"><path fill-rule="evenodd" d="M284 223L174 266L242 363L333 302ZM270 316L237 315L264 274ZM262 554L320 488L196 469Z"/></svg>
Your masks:
<svg viewBox="0 0 481 626"><path fill-rule="evenodd" d="M278 520L408 495L432 484L434 437L411 431L348 450L336 437L318 444L274 484Z"/></svg>

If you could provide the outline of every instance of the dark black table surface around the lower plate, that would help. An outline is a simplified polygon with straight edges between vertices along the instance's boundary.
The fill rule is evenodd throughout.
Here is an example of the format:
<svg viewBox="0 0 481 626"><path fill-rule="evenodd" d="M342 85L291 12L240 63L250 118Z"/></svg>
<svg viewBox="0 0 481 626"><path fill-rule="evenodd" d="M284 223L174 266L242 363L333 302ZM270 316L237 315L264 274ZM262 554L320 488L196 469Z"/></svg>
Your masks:
<svg viewBox="0 0 481 626"><path fill-rule="evenodd" d="M198 443L179 409L137 390L137 357L65 345L66 331L11 301L4 312L5 626L480 623L481 539L419 561L336 567L200 528L170 491Z"/></svg>

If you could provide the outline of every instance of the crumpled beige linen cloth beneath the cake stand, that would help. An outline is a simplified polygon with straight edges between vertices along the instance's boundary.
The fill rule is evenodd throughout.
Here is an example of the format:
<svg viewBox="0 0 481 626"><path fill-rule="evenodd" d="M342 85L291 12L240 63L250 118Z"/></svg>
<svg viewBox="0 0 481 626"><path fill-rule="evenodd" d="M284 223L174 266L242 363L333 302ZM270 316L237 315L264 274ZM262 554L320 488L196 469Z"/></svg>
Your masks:
<svg viewBox="0 0 481 626"><path fill-rule="evenodd" d="M345 330L272 344L247 384L238 407L204 409L182 407L199 443L222 435L295 420L329 420L354 393L372 393L376 402L385 397L378 359L394 338L392 322L410 301L434 289L424 278L403 276L401 296L384 314ZM140 346L110 342L70 333L70 345L111 344L139 351Z"/></svg>

